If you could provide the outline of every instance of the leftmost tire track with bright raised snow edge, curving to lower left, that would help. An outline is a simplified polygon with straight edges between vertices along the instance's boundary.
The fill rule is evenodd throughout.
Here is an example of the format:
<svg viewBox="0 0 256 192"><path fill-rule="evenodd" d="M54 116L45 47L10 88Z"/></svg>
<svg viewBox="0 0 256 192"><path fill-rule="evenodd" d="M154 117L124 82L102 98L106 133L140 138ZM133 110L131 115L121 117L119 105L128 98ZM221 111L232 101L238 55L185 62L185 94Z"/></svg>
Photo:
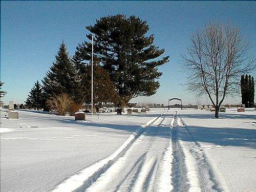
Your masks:
<svg viewBox="0 0 256 192"><path fill-rule="evenodd" d="M111 165L113 165L124 153L129 150L132 144L137 140L137 138L145 131L146 127L153 124L160 118L161 115L143 124L139 129L134 132L124 143L121 145L117 151L114 152L110 157L102 159L87 168L84 168L79 173L63 181L56 186L53 191L84 191L93 182L97 180L102 173L104 173Z"/></svg>

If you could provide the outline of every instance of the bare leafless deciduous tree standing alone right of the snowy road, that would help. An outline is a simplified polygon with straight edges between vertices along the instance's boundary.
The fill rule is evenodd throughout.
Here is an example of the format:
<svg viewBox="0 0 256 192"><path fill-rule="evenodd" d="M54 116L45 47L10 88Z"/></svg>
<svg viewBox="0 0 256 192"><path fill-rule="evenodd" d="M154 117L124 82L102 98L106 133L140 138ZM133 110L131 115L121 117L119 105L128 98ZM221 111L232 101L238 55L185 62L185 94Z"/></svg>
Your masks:
<svg viewBox="0 0 256 192"><path fill-rule="evenodd" d="M239 28L217 22L197 30L190 41L187 55L182 55L187 90L197 96L206 93L219 118L225 96L239 91L241 74L255 69L255 60L248 55L250 42L242 39Z"/></svg>

